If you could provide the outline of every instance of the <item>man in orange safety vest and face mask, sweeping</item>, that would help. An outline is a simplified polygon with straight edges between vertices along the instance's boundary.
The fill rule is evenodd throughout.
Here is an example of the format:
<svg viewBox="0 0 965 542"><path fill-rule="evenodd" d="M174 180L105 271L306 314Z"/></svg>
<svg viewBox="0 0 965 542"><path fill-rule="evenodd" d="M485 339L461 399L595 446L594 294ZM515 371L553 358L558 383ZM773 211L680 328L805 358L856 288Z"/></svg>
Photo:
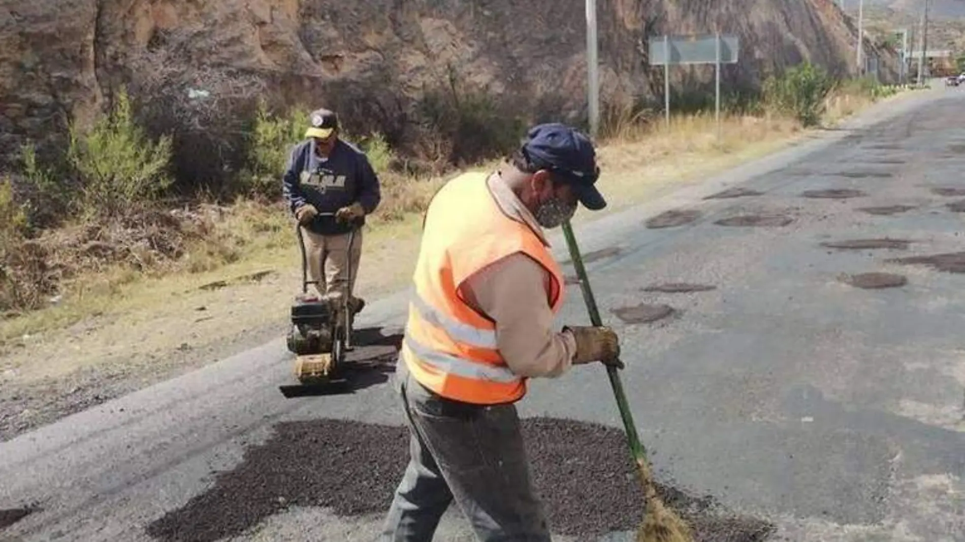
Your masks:
<svg viewBox="0 0 965 542"><path fill-rule="evenodd" d="M411 459L382 540L428 542L454 499L483 542L550 540L513 403L527 378L620 366L609 328L554 330L564 278L542 231L606 205L598 171L585 136L540 124L498 172L429 204L396 377Z"/></svg>

